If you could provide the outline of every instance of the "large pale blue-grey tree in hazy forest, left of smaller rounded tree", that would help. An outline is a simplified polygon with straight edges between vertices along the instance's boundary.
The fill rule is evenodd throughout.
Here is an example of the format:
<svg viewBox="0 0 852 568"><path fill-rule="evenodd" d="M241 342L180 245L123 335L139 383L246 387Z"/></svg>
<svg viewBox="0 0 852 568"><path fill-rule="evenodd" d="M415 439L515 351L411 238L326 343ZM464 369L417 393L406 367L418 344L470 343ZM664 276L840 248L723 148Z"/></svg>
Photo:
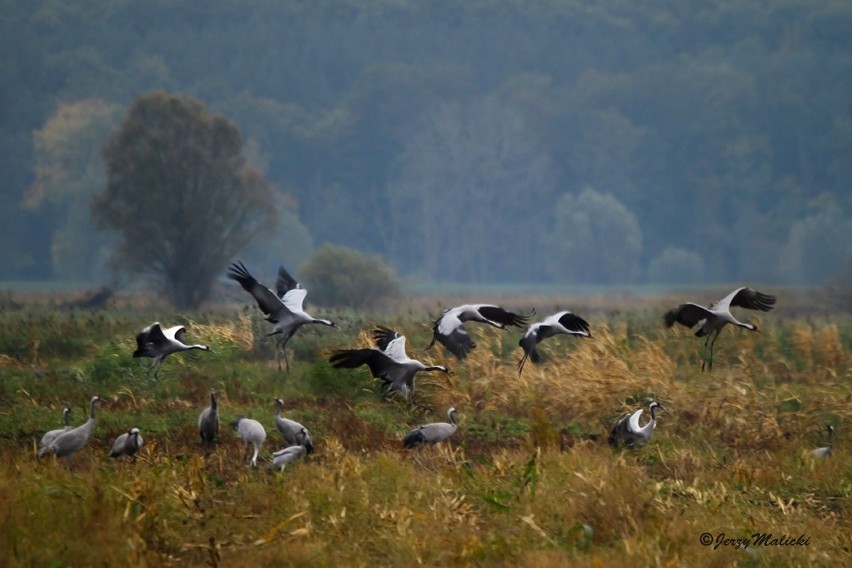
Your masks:
<svg viewBox="0 0 852 568"><path fill-rule="evenodd" d="M412 129L388 186L392 258L434 281L540 278L536 227L550 158L520 112L494 97L444 104Z"/></svg>

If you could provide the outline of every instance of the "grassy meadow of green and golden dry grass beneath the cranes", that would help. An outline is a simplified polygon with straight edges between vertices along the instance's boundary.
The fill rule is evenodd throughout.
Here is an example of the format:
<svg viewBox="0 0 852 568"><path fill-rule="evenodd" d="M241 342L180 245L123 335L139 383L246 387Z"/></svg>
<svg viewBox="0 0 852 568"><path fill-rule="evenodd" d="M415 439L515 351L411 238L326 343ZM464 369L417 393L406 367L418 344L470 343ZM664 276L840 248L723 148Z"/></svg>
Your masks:
<svg viewBox="0 0 852 568"><path fill-rule="evenodd" d="M36 297L0 309L0 564L852 565L852 319L779 293L777 309L748 314L762 333L725 329L702 373L703 341L661 323L684 299L500 298L540 316L567 307L592 327L593 339L542 343L546 360L520 377L519 330L469 326L477 348L464 362L424 351L451 305L432 297L370 313L312 308L339 329L300 331L287 373L247 304L175 314ZM131 354L155 320L185 324L211 352L174 355L153 378ZM331 368L334 349L369 345L376 324L452 374L419 376L410 404L383 396L366 369ZM196 423L210 389L222 429L205 452ZM62 408L80 424L95 394L89 444L70 463L38 459ZM280 472L268 467L285 445L277 397L317 448ZM648 445L611 448L615 420L651 400L668 412ZM449 443L402 449L449 406L460 414ZM257 469L227 426L238 414L267 429ZM834 453L814 460L826 424ZM145 438L137 459L108 458L132 426Z"/></svg>

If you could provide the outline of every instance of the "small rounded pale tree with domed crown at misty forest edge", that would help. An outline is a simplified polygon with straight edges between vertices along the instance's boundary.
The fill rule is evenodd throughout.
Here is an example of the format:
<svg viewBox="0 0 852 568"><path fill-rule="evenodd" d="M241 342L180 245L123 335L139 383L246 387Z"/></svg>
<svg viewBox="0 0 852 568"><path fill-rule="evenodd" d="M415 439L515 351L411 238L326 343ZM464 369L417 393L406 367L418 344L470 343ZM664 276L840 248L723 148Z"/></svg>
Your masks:
<svg viewBox="0 0 852 568"><path fill-rule="evenodd" d="M560 280L623 284L639 278L642 231L610 194L586 188L556 204L549 269Z"/></svg>

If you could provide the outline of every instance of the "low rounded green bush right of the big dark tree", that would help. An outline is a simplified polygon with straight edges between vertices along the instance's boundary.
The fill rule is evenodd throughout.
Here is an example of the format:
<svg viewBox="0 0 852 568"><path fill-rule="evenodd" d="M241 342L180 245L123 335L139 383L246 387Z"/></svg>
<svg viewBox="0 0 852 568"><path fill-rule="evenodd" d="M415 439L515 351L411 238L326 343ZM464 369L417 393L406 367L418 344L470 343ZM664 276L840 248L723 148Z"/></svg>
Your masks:
<svg viewBox="0 0 852 568"><path fill-rule="evenodd" d="M325 245L300 271L311 298L325 306L366 308L399 296L401 283L379 256Z"/></svg>

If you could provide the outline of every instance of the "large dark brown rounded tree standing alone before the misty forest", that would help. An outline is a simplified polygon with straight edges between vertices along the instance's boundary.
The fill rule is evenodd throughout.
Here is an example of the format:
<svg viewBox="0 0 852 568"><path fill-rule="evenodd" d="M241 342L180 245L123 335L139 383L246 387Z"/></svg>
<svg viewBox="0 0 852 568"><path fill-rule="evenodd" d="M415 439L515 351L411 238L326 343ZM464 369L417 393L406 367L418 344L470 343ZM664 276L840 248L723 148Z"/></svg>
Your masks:
<svg viewBox="0 0 852 568"><path fill-rule="evenodd" d="M107 186L92 213L119 235L113 267L153 277L178 307L201 304L225 264L276 222L237 127L194 99L140 96L103 152Z"/></svg>

